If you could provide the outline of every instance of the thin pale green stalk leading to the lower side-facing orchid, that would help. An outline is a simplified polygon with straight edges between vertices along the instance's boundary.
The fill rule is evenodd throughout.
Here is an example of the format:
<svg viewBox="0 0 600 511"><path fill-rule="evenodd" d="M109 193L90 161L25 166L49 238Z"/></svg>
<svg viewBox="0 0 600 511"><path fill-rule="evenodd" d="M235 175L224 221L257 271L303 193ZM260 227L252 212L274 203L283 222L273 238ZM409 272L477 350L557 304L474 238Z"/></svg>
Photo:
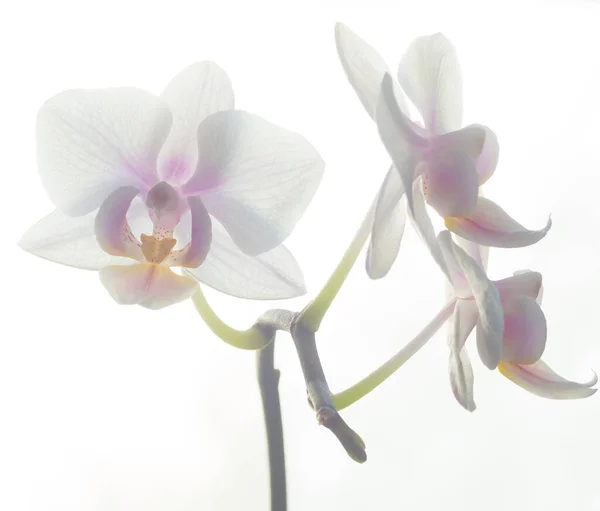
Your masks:
<svg viewBox="0 0 600 511"><path fill-rule="evenodd" d="M394 374L404 363L409 360L417 351L419 351L427 341L442 327L442 325L452 316L456 299L448 302L440 312L414 337L404 348L390 358L385 364L381 365L367 377L360 380L352 387L333 395L333 404L337 410L356 403L359 399L365 397L373 389L381 385L392 374Z"/></svg>

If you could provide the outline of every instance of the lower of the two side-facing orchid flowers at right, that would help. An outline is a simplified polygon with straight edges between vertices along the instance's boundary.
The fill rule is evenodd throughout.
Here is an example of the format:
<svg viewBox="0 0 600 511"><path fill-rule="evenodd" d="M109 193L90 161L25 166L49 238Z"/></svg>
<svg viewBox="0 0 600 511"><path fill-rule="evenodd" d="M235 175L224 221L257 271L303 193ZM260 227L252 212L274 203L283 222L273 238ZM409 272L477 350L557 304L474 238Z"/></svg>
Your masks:
<svg viewBox="0 0 600 511"><path fill-rule="evenodd" d="M450 382L464 408L475 409L473 370L464 347L474 329L482 362L525 390L551 399L578 399L596 392L591 388L598 381L595 375L586 383L568 381L541 360L547 328L540 307L540 273L524 270L491 281L478 245L462 241L463 248L448 231L438 240L457 298L448 339Z"/></svg>

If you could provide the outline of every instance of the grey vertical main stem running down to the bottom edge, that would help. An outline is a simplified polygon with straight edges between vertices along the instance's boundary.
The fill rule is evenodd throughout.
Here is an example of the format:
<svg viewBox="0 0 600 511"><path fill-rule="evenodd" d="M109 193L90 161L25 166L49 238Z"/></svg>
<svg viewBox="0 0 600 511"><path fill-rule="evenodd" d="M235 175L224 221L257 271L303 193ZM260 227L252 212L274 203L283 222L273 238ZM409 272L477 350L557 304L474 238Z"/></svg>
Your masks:
<svg viewBox="0 0 600 511"><path fill-rule="evenodd" d="M256 369L267 430L271 511L286 511L285 450L278 390L280 373L274 367L274 353L275 342L271 342L258 351L256 353Z"/></svg>

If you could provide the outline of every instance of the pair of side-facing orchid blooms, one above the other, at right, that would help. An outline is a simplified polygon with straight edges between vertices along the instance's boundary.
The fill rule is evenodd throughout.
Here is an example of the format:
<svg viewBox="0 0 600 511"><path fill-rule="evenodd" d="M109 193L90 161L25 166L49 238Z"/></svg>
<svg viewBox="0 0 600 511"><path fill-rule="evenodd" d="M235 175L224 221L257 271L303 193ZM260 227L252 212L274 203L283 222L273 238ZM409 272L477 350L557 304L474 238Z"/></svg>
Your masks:
<svg viewBox="0 0 600 511"><path fill-rule="evenodd" d="M348 81L393 162L376 202L367 272L380 278L389 271L408 210L452 289L450 381L456 399L475 409L464 347L474 329L484 365L526 390L555 399L592 395L596 376L583 384L571 382L541 360L547 334L540 308L542 275L518 271L496 282L486 275L489 247L532 245L552 223L548 219L543 229L528 230L482 196L480 187L498 163L498 139L487 126L461 128L462 78L450 41L440 33L415 39L400 60L397 82L377 52L342 24L336 26L336 42ZM407 99L420 120L409 117ZM426 205L448 229L437 237Z"/></svg>

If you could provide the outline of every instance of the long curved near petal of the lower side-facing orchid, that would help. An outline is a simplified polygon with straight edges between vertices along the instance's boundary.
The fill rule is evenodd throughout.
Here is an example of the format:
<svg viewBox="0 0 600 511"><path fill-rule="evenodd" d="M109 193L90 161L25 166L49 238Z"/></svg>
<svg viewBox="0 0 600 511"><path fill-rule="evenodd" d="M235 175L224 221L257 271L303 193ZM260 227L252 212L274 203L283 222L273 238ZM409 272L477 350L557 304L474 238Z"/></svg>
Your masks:
<svg viewBox="0 0 600 511"><path fill-rule="evenodd" d="M442 231L438 240L444 250L452 250L462 270L479 311L477 322L477 349L481 361L495 369L500 362L504 335L504 313L500 295L483 268L454 241L448 231Z"/></svg>

